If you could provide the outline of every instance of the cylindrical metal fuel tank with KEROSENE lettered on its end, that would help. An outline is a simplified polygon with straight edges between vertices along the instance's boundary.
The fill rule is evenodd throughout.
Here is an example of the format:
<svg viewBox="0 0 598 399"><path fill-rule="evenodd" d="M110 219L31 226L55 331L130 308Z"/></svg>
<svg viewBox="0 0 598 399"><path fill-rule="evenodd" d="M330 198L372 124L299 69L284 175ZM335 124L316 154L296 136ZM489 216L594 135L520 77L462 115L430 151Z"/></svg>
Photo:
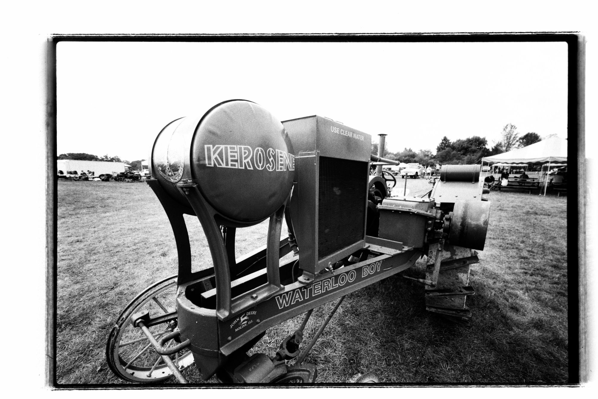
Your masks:
<svg viewBox="0 0 598 399"><path fill-rule="evenodd" d="M293 154L285 128L270 112L230 100L166 125L152 148L151 173L182 205L189 204L176 183L190 181L222 216L257 223L288 197Z"/></svg>

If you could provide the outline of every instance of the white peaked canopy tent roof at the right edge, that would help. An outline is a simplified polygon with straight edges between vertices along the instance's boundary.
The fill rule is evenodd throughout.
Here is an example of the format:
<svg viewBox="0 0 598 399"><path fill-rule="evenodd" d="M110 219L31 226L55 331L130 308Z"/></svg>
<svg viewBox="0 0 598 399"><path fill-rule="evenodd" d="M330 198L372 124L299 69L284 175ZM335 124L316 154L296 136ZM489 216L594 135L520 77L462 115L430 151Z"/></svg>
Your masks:
<svg viewBox="0 0 598 399"><path fill-rule="evenodd" d="M550 137L550 139L523 148L517 148L498 155L484 156L482 165L484 165L484 162L500 162L502 164L548 163L548 170L550 170L551 163L567 162L567 144L566 139ZM544 185L544 195L546 195L547 186L547 184Z"/></svg>

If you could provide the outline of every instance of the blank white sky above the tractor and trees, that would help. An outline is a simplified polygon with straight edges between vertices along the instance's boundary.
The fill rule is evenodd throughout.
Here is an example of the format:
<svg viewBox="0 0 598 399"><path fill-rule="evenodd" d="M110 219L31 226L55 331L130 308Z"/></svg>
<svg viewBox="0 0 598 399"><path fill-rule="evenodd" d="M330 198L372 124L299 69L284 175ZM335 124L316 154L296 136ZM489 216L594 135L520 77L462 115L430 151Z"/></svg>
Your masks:
<svg viewBox="0 0 598 399"><path fill-rule="evenodd" d="M59 42L57 152L148 159L161 128L229 99L321 115L387 151L502 128L567 137L565 42Z"/></svg>

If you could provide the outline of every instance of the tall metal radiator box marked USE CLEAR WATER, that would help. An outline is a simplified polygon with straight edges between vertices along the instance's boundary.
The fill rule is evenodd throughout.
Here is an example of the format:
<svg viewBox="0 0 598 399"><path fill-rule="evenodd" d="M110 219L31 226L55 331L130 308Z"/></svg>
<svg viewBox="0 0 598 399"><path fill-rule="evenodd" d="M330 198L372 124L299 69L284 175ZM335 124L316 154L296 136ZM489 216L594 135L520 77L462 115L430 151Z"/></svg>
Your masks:
<svg viewBox="0 0 598 399"><path fill-rule="evenodd" d="M299 267L316 273L365 245L371 136L321 116L282 124L295 153Z"/></svg>

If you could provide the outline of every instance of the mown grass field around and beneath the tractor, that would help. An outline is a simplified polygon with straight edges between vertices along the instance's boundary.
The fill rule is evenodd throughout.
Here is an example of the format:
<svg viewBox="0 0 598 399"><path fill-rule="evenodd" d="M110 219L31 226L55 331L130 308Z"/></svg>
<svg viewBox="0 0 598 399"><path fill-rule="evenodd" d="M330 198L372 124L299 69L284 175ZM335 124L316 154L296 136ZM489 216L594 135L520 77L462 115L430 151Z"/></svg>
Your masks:
<svg viewBox="0 0 598 399"><path fill-rule="evenodd" d="M401 194L403 184L398 179ZM408 179L407 188L416 195L431 185ZM486 248L470 280L471 326L426 312L423 287L395 275L345 298L307 357L318 366L318 382L367 371L392 383L568 381L567 199L489 198ZM133 296L176 274L172 229L145 183L60 181L57 205L57 383L123 383L106 365L106 337ZM202 228L188 220L194 263L209 267ZM237 231L238 254L265 244L266 234L264 223ZM421 278L424 266L420 260L405 275ZM307 339L332 306L316 309ZM273 355L299 323L271 328L254 351ZM185 375L203 382L195 367Z"/></svg>

